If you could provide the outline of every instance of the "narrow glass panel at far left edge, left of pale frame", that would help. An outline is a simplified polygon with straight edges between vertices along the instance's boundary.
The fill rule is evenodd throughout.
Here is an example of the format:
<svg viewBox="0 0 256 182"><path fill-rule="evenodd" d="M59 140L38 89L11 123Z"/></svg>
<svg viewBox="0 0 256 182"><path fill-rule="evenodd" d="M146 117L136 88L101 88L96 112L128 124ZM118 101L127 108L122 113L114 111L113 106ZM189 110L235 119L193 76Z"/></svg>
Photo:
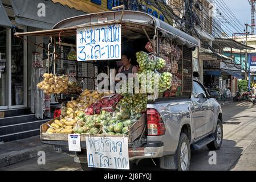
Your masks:
<svg viewBox="0 0 256 182"><path fill-rule="evenodd" d="M7 30L0 27L0 107L7 106Z"/></svg>

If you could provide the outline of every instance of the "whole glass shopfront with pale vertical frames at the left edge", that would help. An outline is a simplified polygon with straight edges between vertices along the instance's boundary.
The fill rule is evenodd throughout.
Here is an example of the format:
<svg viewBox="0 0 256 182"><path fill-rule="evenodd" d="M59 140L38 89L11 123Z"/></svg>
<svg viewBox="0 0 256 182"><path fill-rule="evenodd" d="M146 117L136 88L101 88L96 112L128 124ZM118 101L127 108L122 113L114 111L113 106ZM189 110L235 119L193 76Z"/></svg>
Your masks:
<svg viewBox="0 0 256 182"><path fill-rule="evenodd" d="M0 109L27 106L27 44L14 36L15 32L24 32L26 27L13 25L18 27L0 27Z"/></svg>

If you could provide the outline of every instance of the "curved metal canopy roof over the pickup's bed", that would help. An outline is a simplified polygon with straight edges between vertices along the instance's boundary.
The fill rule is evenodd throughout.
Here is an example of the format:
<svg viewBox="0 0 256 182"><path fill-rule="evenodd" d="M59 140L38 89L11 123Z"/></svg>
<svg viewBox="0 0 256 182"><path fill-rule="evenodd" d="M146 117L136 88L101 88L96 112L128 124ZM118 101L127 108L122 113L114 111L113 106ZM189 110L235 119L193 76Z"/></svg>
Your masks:
<svg viewBox="0 0 256 182"><path fill-rule="evenodd" d="M107 11L103 13L92 13L86 15L75 16L72 18L67 18L57 23L54 26L53 30L48 31L35 31L35 32L24 32L17 33L17 36L23 35L32 35L32 36L74 36L76 35L76 28L79 27L88 27L88 26L96 26L99 25L99 19L106 19L103 24L115 24L120 23L122 11ZM198 41L192 36L186 34L174 28L168 23L161 21L160 19L155 18L152 15L147 13L143 13L140 11L125 11L122 19L123 24L127 24L124 26L128 30L131 30L132 24L137 24L137 30L143 32L141 27L145 27L145 29L151 29L153 35L155 34L154 26L163 32L166 36L169 36L170 39L175 40L177 43L188 47L196 47L198 46Z"/></svg>

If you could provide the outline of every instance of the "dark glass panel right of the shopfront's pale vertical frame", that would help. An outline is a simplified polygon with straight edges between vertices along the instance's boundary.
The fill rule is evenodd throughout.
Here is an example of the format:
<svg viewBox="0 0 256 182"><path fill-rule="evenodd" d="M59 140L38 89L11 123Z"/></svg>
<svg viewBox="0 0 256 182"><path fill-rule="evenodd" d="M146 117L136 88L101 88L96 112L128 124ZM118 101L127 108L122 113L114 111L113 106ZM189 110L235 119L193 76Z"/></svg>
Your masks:
<svg viewBox="0 0 256 182"><path fill-rule="evenodd" d="M16 32L23 30L16 28ZM13 106L24 104L24 56L23 40L11 34L11 104Z"/></svg>

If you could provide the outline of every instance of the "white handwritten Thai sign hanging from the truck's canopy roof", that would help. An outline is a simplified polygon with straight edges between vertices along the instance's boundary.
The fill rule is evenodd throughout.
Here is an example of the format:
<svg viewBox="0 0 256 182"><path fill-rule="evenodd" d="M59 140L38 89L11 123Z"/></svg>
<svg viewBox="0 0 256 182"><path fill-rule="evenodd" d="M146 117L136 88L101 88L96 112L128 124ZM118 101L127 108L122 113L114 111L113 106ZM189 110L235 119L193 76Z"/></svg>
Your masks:
<svg viewBox="0 0 256 182"><path fill-rule="evenodd" d="M78 61L121 59L121 25L76 30Z"/></svg>

